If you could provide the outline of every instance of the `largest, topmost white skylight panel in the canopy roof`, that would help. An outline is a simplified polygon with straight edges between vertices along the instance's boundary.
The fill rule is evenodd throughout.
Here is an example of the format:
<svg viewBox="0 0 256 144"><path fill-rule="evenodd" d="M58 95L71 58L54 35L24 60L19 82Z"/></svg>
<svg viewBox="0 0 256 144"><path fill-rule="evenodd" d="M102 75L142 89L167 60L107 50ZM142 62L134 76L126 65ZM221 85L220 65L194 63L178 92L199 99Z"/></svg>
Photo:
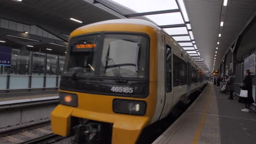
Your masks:
<svg viewBox="0 0 256 144"><path fill-rule="evenodd" d="M178 9L178 5L175 0L112 0L116 3L124 5L127 8L137 11L138 13L144 13L149 11Z"/></svg>

